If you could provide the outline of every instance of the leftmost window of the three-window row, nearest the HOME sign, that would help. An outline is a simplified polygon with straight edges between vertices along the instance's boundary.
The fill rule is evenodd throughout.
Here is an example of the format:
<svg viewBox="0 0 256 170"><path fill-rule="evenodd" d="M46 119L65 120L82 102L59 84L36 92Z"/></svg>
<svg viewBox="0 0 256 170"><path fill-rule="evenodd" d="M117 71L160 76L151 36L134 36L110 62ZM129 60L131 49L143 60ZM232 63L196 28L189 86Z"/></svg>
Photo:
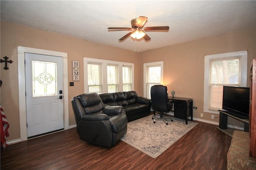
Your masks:
<svg viewBox="0 0 256 170"><path fill-rule="evenodd" d="M102 92L102 63L88 63L88 92Z"/></svg>

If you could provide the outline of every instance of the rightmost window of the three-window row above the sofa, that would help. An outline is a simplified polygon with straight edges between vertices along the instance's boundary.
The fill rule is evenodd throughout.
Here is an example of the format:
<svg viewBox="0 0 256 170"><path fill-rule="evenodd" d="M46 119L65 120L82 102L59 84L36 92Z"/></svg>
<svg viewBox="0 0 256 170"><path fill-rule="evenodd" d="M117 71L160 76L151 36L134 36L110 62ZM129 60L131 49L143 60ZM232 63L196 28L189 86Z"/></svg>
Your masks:
<svg viewBox="0 0 256 170"><path fill-rule="evenodd" d="M132 89L132 67L123 65L123 91L131 91Z"/></svg>

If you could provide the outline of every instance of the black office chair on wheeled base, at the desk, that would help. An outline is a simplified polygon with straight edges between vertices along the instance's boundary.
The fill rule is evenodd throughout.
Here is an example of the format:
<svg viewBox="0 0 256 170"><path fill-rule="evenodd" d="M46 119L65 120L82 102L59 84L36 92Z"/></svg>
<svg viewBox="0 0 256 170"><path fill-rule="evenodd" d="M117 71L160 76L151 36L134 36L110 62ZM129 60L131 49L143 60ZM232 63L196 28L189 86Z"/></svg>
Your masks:
<svg viewBox="0 0 256 170"><path fill-rule="evenodd" d="M168 99L167 87L163 85L154 85L150 89L151 94L151 106L154 110L154 123L156 123L156 119L163 119L168 125L166 118L170 117L163 117L163 113L168 113L172 110L173 101ZM156 112L160 112L160 116L156 116ZM173 122L172 118L170 118Z"/></svg>

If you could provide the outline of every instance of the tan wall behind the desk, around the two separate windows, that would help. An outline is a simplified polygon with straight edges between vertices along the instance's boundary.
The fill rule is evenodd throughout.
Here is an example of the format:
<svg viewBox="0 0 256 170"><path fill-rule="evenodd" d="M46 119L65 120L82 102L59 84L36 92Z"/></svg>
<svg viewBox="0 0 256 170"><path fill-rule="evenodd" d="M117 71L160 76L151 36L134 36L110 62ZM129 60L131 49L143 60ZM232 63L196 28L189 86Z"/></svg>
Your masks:
<svg viewBox="0 0 256 170"><path fill-rule="evenodd" d="M194 99L195 118L218 122L211 119L212 113L204 113L204 56L234 51L248 51L248 74L253 58L256 58L256 29L242 30L144 51L140 53L142 63L164 61L164 85L168 91L175 91L176 97ZM143 75L143 70L140 73ZM249 76L247 77L249 87ZM143 84L140 84L143 89ZM204 117L200 117L204 113Z"/></svg>

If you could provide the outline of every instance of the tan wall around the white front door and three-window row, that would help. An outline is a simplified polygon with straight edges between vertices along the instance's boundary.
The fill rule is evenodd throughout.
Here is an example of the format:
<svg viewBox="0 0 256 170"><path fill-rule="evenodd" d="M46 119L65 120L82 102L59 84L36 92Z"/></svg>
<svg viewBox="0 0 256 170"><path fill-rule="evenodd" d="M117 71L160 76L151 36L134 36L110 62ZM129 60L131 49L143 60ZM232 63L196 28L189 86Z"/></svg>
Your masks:
<svg viewBox="0 0 256 170"><path fill-rule="evenodd" d="M1 22L1 58L9 57L12 64L9 69L4 70L1 63L1 105L10 124L10 136L6 140L20 138L20 119L18 101L18 59L17 47L31 47L68 53L68 82L72 82L72 60L80 61L80 81L74 81L74 86L68 86L69 96L69 125L75 125L74 113L70 100L73 96L84 93L84 64L83 58L97 58L112 61L134 63L135 73L140 72L140 61L138 53L133 51L88 42L77 38L45 32L42 30L28 28L10 22ZM139 92L139 74L134 75L134 90ZM143 95L143 93L142 93Z"/></svg>

